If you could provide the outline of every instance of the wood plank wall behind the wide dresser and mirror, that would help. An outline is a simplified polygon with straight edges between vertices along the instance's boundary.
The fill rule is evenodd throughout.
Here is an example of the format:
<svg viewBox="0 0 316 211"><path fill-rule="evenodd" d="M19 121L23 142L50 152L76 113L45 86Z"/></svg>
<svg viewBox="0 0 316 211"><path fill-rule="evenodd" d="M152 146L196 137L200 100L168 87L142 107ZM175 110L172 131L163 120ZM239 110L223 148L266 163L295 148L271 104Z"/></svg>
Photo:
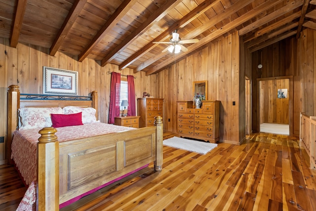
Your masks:
<svg viewBox="0 0 316 211"><path fill-rule="evenodd" d="M164 125L168 131L176 132L176 102L192 100L192 82L207 80L208 99L221 101L220 140L239 143L238 119L239 115L244 116L244 111L239 114L238 33L209 44L201 51L159 72L157 77L158 96L163 97L165 101ZM235 106L233 101L236 102ZM244 126L241 127L244 130Z"/></svg>

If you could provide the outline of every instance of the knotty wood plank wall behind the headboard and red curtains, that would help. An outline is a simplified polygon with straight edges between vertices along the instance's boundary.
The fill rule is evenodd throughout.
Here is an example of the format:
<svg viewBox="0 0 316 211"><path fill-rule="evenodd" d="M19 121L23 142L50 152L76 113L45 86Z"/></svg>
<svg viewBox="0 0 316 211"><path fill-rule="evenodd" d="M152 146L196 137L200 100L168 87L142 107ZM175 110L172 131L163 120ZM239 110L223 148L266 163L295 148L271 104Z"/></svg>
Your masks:
<svg viewBox="0 0 316 211"><path fill-rule="evenodd" d="M118 65L108 64L101 67L100 62L93 59L78 62L76 56L59 51L55 56L50 56L48 52L47 48L23 43L18 43L17 48L12 48L7 39L0 38L0 137L6 136L7 87L17 84L20 86L21 93L41 94L43 66L77 71L78 95L87 95L93 90L98 91L98 119L104 123L108 123L109 117L111 75L107 75L108 71L137 77L134 79L136 100L138 97L143 97L143 92L157 96L156 75L146 76L145 72L134 74L133 69L129 68L119 71ZM4 147L4 143L0 143L0 164L5 162Z"/></svg>

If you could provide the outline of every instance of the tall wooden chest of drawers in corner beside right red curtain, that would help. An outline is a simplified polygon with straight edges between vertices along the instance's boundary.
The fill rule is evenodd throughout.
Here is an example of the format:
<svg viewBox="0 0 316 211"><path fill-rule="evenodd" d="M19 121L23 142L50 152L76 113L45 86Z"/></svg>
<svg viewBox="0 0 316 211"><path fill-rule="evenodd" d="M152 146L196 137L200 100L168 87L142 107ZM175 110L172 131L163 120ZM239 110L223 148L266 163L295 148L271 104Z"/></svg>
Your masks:
<svg viewBox="0 0 316 211"><path fill-rule="evenodd" d="M137 98L137 115L139 127L154 126L155 117L163 118L163 99L162 98Z"/></svg>

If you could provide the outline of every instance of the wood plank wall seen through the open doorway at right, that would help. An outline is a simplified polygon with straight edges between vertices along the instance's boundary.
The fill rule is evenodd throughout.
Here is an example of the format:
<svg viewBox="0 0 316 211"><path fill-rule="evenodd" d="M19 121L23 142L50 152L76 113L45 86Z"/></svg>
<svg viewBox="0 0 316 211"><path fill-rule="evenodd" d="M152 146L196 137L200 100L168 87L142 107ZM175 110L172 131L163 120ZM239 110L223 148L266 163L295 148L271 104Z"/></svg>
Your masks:
<svg viewBox="0 0 316 211"><path fill-rule="evenodd" d="M265 80L260 82L262 90L262 123L289 124L289 97L277 98L277 90L284 88L289 93L289 79ZM292 90L291 90L292 91Z"/></svg>

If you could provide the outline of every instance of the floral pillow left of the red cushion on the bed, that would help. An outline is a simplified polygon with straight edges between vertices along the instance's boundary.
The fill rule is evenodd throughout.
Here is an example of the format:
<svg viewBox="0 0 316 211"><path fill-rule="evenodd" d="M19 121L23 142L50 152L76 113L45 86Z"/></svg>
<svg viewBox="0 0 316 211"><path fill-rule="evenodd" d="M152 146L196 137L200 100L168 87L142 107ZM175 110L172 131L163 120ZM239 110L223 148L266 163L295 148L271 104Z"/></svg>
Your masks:
<svg viewBox="0 0 316 211"><path fill-rule="evenodd" d="M59 107L37 108L27 107L19 109L21 127L23 129L51 127L50 114L63 114L63 109Z"/></svg>

